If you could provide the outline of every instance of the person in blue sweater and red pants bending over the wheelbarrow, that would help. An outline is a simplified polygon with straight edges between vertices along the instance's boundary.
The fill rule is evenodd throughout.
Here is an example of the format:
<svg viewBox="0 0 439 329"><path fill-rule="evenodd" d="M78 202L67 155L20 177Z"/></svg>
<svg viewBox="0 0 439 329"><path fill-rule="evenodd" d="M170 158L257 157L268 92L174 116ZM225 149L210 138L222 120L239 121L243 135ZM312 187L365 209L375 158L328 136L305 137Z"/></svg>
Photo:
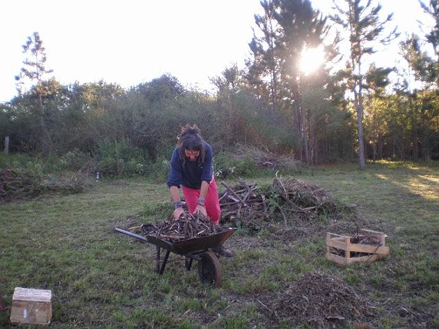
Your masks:
<svg viewBox="0 0 439 329"><path fill-rule="evenodd" d="M184 212L180 201L180 191L185 195L189 212L201 212L213 223L219 225L218 189L213 178L212 147L203 141L197 125L185 125L177 136L177 147L171 157L171 171L167 186L175 204L174 218L178 219ZM223 247L215 250L224 256L232 253Z"/></svg>

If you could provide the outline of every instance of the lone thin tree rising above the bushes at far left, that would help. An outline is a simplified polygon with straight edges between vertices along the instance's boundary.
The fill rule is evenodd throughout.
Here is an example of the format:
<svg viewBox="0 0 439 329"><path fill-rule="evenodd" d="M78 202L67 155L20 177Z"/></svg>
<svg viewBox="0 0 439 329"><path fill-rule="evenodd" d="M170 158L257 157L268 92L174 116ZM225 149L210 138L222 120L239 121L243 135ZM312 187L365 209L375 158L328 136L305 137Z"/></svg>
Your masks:
<svg viewBox="0 0 439 329"><path fill-rule="evenodd" d="M22 47L23 53L25 53L25 60L23 61L24 66L21 68L21 72L15 77L17 82L16 86L19 95L22 95L26 80L32 85L32 92L36 94L36 99L38 99L37 116L40 121L41 130L43 131L41 141L43 144L43 153L47 155L52 151L52 141L44 117L43 96L47 94L48 90L45 88L45 84L43 84L43 79L47 74L53 71L45 67L47 60L46 49L43 47L43 40L41 40L38 32L34 32L32 36L28 36Z"/></svg>

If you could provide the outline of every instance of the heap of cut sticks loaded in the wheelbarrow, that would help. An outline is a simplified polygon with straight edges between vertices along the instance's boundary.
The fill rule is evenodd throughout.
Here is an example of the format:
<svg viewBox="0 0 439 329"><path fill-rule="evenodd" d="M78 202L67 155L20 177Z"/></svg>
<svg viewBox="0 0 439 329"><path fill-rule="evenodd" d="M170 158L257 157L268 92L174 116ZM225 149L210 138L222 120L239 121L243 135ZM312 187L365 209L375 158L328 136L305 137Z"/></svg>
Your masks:
<svg viewBox="0 0 439 329"><path fill-rule="evenodd" d="M143 224L142 230L146 235L176 242L223 232L224 228L215 225L209 217L200 212L196 215L185 212L178 219L171 217L171 219L158 223Z"/></svg>

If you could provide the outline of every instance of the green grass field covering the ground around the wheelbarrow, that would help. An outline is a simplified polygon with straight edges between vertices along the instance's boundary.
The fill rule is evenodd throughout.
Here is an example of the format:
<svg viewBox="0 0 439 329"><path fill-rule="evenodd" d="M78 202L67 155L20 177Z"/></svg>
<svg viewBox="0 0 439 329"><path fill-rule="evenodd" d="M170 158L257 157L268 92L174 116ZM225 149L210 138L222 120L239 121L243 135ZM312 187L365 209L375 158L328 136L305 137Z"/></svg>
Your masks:
<svg viewBox="0 0 439 329"><path fill-rule="evenodd" d="M439 167L337 165L294 178L356 204L358 218L388 234L390 255L340 267L324 257L324 235L285 241L237 232L226 243L236 256L220 258L221 288L202 285L196 265L188 272L173 254L159 276L155 247L113 228L167 204L165 184L103 181L77 195L0 205L0 293L9 306L14 287L51 289L50 328L292 328L261 301L315 271L341 278L376 310L366 323L333 328L439 328ZM8 312L0 327L10 328Z"/></svg>

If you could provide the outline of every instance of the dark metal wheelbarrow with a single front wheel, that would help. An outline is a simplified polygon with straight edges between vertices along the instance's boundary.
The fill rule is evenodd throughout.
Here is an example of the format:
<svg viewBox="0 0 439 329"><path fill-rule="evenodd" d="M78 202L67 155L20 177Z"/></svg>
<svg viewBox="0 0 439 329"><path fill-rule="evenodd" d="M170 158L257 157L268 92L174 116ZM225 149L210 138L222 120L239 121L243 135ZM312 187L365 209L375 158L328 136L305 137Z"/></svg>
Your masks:
<svg viewBox="0 0 439 329"><path fill-rule="evenodd" d="M142 226L145 233L148 232L147 225ZM219 248L234 232L236 228L224 228L224 231L209 236L200 236L193 239L171 242L159 239L152 235L139 235L121 228L115 231L132 236L140 241L151 243L156 246L156 272L163 274L169 254L173 252L185 256L185 267L191 270L193 260L198 260L198 276L203 284L213 284L220 287L222 284L221 265L214 249ZM161 260L161 249L166 250L163 260Z"/></svg>

